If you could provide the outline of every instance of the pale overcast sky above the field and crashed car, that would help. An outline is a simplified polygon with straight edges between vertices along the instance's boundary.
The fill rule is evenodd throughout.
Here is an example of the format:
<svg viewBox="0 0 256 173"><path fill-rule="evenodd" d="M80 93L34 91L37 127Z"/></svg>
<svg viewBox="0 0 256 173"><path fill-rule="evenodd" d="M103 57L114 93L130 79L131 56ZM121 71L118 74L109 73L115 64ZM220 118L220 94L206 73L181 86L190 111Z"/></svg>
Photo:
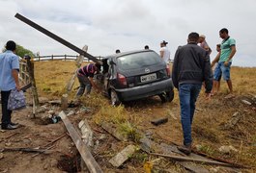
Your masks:
<svg viewBox="0 0 256 173"><path fill-rule="evenodd" d="M19 13L79 48L88 45L93 56L150 49L159 53L168 42L171 59L189 33L206 36L216 56L219 30L227 28L236 39L233 65L255 67L255 0L0 0L0 48L8 40L33 53L77 55L14 17Z"/></svg>

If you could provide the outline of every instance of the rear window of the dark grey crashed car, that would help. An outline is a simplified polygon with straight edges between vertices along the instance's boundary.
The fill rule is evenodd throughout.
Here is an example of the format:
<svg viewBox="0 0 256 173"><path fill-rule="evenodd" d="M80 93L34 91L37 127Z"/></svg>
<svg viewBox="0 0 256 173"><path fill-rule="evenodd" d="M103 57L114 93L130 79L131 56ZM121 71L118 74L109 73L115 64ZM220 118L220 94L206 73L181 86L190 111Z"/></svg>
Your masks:
<svg viewBox="0 0 256 173"><path fill-rule="evenodd" d="M156 52L140 52L129 54L117 59L120 69L129 70L154 65L161 62Z"/></svg>

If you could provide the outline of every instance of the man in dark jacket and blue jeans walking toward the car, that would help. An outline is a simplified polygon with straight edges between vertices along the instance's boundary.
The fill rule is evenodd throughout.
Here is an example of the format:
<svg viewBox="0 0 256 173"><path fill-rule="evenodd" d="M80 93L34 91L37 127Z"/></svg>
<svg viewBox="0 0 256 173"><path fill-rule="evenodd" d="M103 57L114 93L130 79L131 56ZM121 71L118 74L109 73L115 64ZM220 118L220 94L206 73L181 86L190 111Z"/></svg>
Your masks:
<svg viewBox="0 0 256 173"><path fill-rule="evenodd" d="M179 90L184 133L184 146L178 149L186 155L191 153L191 125L202 83L205 82L207 98L210 98L213 87L210 57L197 45L198 38L197 33L188 35L187 44L176 51L172 71L173 84Z"/></svg>

